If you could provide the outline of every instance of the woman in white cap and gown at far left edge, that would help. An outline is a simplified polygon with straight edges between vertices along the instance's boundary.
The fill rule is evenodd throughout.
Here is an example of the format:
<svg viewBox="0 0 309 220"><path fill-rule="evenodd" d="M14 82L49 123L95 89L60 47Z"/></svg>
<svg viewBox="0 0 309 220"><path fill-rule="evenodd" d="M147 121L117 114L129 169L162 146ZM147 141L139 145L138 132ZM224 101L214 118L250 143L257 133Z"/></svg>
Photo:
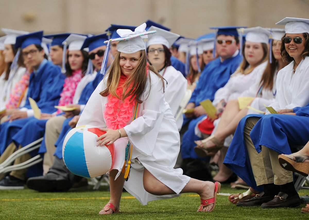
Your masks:
<svg viewBox="0 0 309 220"><path fill-rule="evenodd" d="M17 108L14 105L7 106L10 101L10 95L15 88L15 85L19 80L23 77L26 72L26 68L24 67L23 57L20 55L20 50L15 49L14 45L16 42L16 37L27 34L25 31L17 31L12 29L2 28L2 31L6 33L4 39L4 62L6 63L6 67L4 73L0 76L0 111L9 107L10 110L3 112L0 114L0 118L3 116L10 114L13 110Z"/></svg>

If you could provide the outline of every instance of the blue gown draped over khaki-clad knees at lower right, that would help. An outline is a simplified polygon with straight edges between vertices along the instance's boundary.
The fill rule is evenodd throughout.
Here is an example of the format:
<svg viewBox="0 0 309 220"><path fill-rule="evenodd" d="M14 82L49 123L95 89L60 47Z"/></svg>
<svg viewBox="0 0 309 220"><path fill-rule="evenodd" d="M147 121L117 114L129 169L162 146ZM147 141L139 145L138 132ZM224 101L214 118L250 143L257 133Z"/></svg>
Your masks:
<svg viewBox="0 0 309 220"><path fill-rule="evenodd" d="M247 147L243 140L243 129L248 117L260 120L250 132L250 137L257 150L266 146L279 154L291 154L290 145L305 145L309 140L309 107L294 108L296 116L282 114L251 114L245 116L238 124L233 140L227 150L224 164L242 178L249 186L257 187L249 160Z"/></svg>

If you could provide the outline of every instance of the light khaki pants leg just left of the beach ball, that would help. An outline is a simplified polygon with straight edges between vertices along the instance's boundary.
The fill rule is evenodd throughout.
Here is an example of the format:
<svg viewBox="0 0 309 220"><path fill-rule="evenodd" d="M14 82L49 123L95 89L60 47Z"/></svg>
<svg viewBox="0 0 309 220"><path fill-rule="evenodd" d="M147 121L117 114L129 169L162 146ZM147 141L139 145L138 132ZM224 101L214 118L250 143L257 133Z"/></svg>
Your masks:
<svg viewBox="0 0 309 220"><path fill-rule="evenodd" d="M49 168L53 165L54 153L56 150L55 142L57 141L62 129L62 124L66 117L61 115L53 117L46 122L45 126L45 146L46 153L43 158L43 175L45 175Z"/></svg>

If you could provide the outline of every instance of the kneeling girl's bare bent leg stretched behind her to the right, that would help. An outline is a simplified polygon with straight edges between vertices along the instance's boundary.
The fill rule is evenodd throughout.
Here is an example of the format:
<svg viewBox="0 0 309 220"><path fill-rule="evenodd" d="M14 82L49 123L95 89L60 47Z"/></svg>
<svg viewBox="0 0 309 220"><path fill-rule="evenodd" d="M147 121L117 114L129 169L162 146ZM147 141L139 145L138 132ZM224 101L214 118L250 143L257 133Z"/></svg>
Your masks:
<svg viewBox="0 0 309 220"><path fill-rule="evenodd" d="M173 190L155 178L147 169L144 169L143 184L145 190L153 195L161 196L175 194ZM191 178L182 189L181 193L195 192L199 194L201 198L209 198L214 196L214 187L214 183L210 181L201 181ZM205 206L202 211L207 212L212 209L213 206L213 204Z"/></svg>

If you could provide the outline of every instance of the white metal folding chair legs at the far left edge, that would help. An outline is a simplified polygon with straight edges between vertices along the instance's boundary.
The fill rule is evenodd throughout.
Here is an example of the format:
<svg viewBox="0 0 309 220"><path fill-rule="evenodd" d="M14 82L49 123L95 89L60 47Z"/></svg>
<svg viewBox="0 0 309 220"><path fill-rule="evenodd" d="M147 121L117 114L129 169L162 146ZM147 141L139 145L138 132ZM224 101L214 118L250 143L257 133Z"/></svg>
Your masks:
<svg viewBox="0 0 309 220"><path fill-rule="evenodd" d="M16 150L13 154L11 154L5 161L3 161L3 163L0 164L0 174L7 173L13 170L21 170L24 168L31 167L37 163L40 163L43 159L41 158L40 155L36 155L35 157L32 157L31 159L23 163L10 166L10 164L12 164L15 159L33 150L40 148L42 140L43 137L28 144L27 146L24 146L23 148L20 148L19 150Z"/></svg>

